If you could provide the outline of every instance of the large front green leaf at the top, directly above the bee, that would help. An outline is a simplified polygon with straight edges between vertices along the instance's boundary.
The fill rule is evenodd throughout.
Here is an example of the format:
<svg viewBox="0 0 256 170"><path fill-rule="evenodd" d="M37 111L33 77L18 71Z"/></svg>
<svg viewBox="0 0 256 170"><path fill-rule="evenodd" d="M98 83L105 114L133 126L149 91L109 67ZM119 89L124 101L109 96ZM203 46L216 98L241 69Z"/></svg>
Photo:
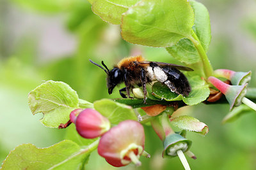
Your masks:
<svg viewBox="0 0 256 170"><path fill-rule="evenodd" d="M129 43L168 47L191 36L194 13L186 0L142 0L122 17L122 37Z"/></svg>

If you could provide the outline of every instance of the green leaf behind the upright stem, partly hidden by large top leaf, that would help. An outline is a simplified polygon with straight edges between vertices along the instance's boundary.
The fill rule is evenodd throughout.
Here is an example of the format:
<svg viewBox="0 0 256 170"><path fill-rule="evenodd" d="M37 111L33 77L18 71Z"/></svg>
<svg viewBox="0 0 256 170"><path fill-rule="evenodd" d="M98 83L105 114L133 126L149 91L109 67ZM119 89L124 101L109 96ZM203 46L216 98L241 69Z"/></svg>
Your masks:
<svg viewBox="0 0 256 170"><path fill-rule="evenodd" d="M195 25L193 30L195 31L200 43L202 44L205 52L207 52L211 42L211 23L207 8L201 3L196 1L190 1L195 14ZM193 45L188 39L184 38L176 45L166 48L166 50L180 62L186 64L195 64L200 61L200 56Z"/></svg>

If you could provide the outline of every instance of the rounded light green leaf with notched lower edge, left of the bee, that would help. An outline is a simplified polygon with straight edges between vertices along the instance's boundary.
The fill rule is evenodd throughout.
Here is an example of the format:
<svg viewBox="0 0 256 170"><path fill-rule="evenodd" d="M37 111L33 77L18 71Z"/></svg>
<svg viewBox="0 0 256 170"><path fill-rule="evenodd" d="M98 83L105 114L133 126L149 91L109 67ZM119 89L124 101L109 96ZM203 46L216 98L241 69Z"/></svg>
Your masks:
<svg viewBox="0 0 256 170"><path fill-rule="evenodd" d="M46 81L28 95L33 115L44 113L40 121L47 127L58 127L69 120L72 110L79 108L76 91L61 81Z"/></svg>

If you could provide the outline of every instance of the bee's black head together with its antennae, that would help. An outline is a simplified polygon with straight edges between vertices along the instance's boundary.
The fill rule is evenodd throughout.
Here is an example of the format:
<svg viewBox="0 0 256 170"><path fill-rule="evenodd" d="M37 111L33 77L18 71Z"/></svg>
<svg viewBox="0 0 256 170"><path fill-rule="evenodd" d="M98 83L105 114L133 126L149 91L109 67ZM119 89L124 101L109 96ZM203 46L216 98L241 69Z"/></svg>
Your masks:
<svg viewBox="0 0 256 170"><path fill-rule="evenodd" d="M113 89L116 87L116 85L118 85L118 83L121 83L122 80L123 80L123 78L122 78L123 77L122 71L118 67L114 67L113 69L111 69L109 71L108 67L104 64L103 61L101 62L101 64L106 69L104 69L99 64L93 62L92 60L90 60L90 62L92 62L92 64L95 64L96 66L100 67L101 69L103 69L108 74L108 78L107 78L108 93L112 94Z"/></svg>

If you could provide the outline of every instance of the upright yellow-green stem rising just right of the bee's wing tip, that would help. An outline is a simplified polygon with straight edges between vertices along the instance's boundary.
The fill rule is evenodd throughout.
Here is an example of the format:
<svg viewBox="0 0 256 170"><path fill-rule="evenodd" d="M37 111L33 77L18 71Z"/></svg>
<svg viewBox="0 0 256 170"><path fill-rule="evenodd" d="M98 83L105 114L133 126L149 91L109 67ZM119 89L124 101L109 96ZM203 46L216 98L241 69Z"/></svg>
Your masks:
<svg viewBox="0 0 256 170"><path fill-rule="evenodd" d="M200 58L202 60L202 64L204 66L204 73L206 78L208 78L209 76L212 75L213 69L212 69L212 65L205 53L205 50L202 46L202 44L200 43L200 40L198 39L198 37L196 36L196 33L193 31L193 29L191 29L191 37L189 38L192 43L195 45L196 50L198 51Z"/></svg>

